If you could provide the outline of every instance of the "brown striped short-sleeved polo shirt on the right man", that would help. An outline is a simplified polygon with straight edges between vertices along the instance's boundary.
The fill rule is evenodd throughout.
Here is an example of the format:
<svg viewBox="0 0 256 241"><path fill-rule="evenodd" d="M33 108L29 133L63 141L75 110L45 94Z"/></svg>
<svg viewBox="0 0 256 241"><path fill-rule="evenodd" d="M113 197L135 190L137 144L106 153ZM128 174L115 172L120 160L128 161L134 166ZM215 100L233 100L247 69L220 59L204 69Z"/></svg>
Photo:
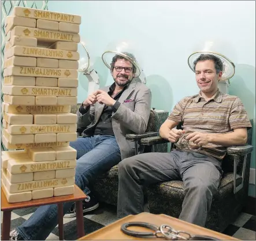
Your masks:
<svg viewBox="0 0 256 241"><path fill-rule="evenodd" d="M221 93L219 89L209 101L201 96L201 92L184 97L173 108L168 119L183 122L185 135L195 131L225 134L237 128L251 127L242 101L237 96ZM177 141L177 149L184 149L180 146L180 140ZM222 160L227 153L227 147L209 143L198 152Z"/></svg>

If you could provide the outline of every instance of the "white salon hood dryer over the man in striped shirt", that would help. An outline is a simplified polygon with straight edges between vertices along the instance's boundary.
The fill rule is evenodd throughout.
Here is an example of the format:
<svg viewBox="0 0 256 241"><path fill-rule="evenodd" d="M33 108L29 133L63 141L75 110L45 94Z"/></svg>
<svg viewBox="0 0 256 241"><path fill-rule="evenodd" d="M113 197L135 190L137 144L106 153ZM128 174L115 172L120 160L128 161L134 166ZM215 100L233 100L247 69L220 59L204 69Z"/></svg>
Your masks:
<svg viewBox="0 0 256 241"><path fill-rule="evenodd" d="M223 70L222 77L218 82L218 88L222 93L228 93L228 87L230 85L229 80L235 74L235 63L232 61L236 61L235 50L232 48L231 43L212 39L196 44L194 52L188 57L188 66L190 66L190 69L194 72L194 61L201 54L212 54L221 59ZM230 58L232 58L232 61Z"/></svg>

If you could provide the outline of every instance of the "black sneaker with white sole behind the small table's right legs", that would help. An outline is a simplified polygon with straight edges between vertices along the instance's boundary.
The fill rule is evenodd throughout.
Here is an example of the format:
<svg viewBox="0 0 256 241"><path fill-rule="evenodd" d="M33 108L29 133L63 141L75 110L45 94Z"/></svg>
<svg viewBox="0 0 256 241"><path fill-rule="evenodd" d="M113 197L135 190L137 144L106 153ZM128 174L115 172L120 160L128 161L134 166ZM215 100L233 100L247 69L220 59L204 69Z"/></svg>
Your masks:
<svg viewBox="0 0 256 241"><path fill-rule="evenodd" d="M87 194L87 198L83 200L83 213L90 212L94 209L97 209L99 206L99 202L94 197L94 195ZM64 217L76 217L76 205L75 202L72 205L71 209L64 215Z"/></svg>

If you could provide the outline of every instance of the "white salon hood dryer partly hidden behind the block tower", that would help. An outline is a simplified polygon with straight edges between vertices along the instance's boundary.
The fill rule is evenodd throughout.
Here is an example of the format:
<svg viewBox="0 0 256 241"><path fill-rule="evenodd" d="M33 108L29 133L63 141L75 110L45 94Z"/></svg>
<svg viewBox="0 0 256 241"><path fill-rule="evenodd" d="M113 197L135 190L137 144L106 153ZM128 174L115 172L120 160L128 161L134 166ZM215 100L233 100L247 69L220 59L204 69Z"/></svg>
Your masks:
<svg viewBox="0 0 256 241"><path fill-rule="evenodd" d="M99 89L99 76L97 71L95 71L92 67L90 55L86 49L86 44L83 41L79 43L79 54L81 58L78 61L78 71L84 73L84 75L87 77L89 81L88 94L90 95L90 93Z"/></svg>

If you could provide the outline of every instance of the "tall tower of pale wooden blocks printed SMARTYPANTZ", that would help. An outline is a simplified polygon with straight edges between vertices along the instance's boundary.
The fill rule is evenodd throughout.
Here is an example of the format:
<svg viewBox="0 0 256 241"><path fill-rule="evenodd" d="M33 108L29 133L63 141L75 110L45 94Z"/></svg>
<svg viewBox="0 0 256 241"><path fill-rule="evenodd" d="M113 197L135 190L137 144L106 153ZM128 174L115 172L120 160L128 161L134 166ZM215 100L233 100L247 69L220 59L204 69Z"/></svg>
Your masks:
<svg viewBox="0 0 256 241"><path fill-rule="evenodd" d="M81 17L14 7L6 17L2 189L8 202L74 192ZM18 149L18 150L17 150Z"/></svg>

